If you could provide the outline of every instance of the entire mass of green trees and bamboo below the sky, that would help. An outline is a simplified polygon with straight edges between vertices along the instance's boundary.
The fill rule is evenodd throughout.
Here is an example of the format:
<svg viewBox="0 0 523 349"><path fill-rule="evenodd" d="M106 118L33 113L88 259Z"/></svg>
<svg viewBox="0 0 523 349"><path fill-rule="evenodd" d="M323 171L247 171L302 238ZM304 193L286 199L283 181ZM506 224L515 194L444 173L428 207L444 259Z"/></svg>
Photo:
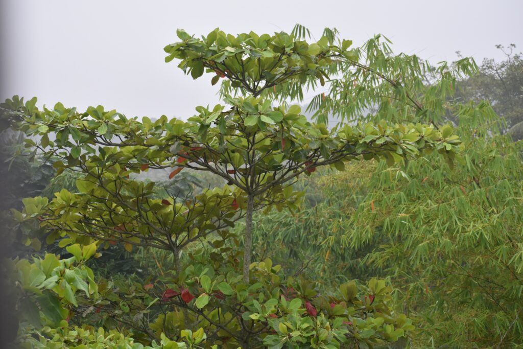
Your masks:
<svg viewBox="0 0 523 349"><path fill-rule="evenodd" d="M520 345L519 55L337 34L178 30L224 102L187 121L6 100L13 346Z"/></svg>

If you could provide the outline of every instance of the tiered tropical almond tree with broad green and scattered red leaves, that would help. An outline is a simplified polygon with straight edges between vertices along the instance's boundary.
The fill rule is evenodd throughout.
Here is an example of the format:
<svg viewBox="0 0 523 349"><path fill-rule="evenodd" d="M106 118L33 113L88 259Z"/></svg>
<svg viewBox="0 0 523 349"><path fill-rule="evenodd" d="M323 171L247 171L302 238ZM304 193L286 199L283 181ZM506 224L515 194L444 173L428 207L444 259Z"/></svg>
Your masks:
<svg viewBox="0 0 523 349"><path fill-rule="evenodd" d="M329 33L308 43L296 33L232 36L216 29L198 39L178 30L181 41L165 48L166 61L180 60L179 67L193 78L207 72L213 84L224 79L224 105L197 107L187 121L165 116L140 121L101 106L79 112L61 103L40 110L36 98L25 104L18 97L7 100L2 118L28 136L38 136L38 141L26 140L35 155L51 161L58 173L78 173L75 193L63 189L51 201L29 198L24 210L14 211L25 241L34 238L31 227L37 222L48 233L47 243L59 240L73 254L93 243L97 248L122 243L129 252L142 246L172 253L176 270L161 278L161 294L152 297L157 288L151 283L138 293L135 287L129 294L123 286L111 291L104 287L103 295L93 296L108 318L128 326L141 319L132 327L150 339L169 333L167 319L177 328L203 321L212 332L210 339L233 339L231 343L245 348L261 342L269 347L339 347L346 341L374 343L403 336L412 329L410 320L389 307L392 289L383 280L371 280L365 296L359 296L354 283L342 285L338 296L318 295L314 283L306 280L291 287L295 281L290 278L284 285L280 267L270 260L251 260L253 212L295 208L302 194L292 184L299 176L320 166L343 171L355 159L384 159L392 165L433 151L452 161L459 150L460 140L449 125L377 121L328 129L308 120L299 106L275 105L278 95L291 91L291 97L299 98L304 86L324 85L329 74L358 60L349 50L351 41ZM190 169L210 172L228 184L186 197L155 198L155 183L133 177L163 168L172 170L173 181ZM240 240L228 228L243 218L241 253L229 247ZM210 260L202 257L206 254L193 255L190 265L182 265L181 251L206 239L215 249ZM237 275L237 257L242 255ZM65 300L73 309L78 303L74 295L69 297ZM132 297L129 307L124 299ZM85 302L85 314L98 309L89 299ZM165 306L175 310L167 312ZM153 310L156 321L145 321L144 314ZM365 315L371 312L372 321Z"/></svg>

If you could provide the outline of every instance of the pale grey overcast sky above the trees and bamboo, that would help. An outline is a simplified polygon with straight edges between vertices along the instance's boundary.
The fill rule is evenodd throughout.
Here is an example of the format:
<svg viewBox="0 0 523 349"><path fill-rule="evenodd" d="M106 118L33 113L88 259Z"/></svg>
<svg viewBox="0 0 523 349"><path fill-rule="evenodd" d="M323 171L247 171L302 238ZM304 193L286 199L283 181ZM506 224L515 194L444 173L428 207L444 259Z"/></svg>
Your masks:
<svg viewBox="0 0 523 349"><path fill-rule="evenodd" d="M176 28L207 35L290 31L296 22L319 39L324 27L361 44L376 33L395 52L431 62L502 59L495 44L523 51L523 1L134 1L1 0L0 98L37 96L83 110L104 105L127 116L187 118L218 103L211 75L193 81L163 47ZM192 6L190 4L193 4ZM194 6L194 7L193 7Z"/></svg>

